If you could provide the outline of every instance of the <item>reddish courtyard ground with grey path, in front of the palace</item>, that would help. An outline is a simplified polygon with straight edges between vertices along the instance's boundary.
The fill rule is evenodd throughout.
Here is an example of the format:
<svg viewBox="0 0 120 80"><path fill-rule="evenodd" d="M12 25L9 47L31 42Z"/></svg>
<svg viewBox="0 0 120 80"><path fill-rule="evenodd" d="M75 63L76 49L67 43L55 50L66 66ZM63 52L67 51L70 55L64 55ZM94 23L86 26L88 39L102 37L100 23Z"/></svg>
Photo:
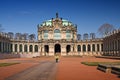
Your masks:
<svg viewBox="0 0 120 80"><path fill-rule="evenodd" d="M120 60L101 58L61 57L55 63L54 57L4 59L2 62L20 64L0 67L0 80L120 80L117 75L104 73L95 66L81 64L89 62L115 62Z"/></svg>

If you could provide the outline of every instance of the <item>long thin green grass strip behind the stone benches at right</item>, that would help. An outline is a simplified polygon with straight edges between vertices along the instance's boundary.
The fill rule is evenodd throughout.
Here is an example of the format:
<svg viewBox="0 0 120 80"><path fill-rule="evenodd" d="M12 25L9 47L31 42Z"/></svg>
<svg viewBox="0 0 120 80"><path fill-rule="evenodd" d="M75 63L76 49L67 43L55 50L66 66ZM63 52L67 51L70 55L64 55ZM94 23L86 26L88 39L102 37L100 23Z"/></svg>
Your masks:
<svg viewBox="0 0 120 80"><path fill-rule="evenodd" d="M118 64L120 62L81 62L81 64L88 65L88 66L98 66L98 64Z"/></svg>

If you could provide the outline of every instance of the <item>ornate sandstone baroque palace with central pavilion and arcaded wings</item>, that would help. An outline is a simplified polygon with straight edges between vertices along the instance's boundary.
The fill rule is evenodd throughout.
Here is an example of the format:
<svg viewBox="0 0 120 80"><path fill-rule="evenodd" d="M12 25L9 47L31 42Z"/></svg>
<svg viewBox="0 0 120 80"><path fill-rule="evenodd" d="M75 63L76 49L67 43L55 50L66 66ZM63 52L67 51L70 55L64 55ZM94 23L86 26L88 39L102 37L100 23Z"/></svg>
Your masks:
<svg viewBox="0 0 120 80"><path fill-rule="evenodd" d="M107 54L105 46L107 38L78 40L77 26L68 20L59 18L58 13L56 13L55 18L38 24L37 28L37 41L9 39L6 35L0 34L0 56L8 54L10 57L13 55L14 57L54 56L55 54L61 56L101 56ZM120 37L119 33L120 31L117 36ZM120 38L116 43L117 47L120 45L118 44L120 43L119 41ZM112 45L112 42L110 43ZM113 50L113 48L110 49ZM117 50L120 50L120 47ZM120 54L120 51L116 51L116 53Z"/></svg>

